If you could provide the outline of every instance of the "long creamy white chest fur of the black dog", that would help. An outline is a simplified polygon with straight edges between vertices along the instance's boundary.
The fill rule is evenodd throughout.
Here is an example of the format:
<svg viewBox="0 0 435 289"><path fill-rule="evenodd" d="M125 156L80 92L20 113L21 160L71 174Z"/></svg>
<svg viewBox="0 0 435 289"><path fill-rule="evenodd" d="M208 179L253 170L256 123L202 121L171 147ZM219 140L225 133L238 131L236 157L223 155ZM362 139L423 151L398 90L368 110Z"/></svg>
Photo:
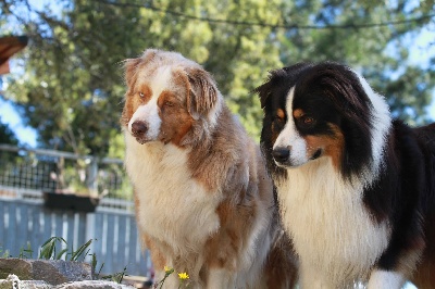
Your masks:
<svg viewBox="0 0 435 289"><path fill-rule="evenodd" d="M362 181L344 180L327 158L287 173L287 180L277 183L278 198L301 257L303 285L319 280L334 288L366 277L390 233L388 224L376 224L364 208Z"/></svg>

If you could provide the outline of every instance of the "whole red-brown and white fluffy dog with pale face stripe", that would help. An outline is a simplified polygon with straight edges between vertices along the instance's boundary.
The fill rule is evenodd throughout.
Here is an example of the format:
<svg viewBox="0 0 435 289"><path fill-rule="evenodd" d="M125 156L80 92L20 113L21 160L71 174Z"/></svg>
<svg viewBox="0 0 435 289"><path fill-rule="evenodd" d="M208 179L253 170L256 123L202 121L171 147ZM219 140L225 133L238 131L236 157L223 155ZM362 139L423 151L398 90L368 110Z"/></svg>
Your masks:
<svg viewBox="0 0 435 289"><path fill-rule="evenodd" d="M157 271L189 288L289 288L295 260L260 149L213 78L179 53L125 62L125 167ZM177 274L164 288L178 288Z"/></svg>

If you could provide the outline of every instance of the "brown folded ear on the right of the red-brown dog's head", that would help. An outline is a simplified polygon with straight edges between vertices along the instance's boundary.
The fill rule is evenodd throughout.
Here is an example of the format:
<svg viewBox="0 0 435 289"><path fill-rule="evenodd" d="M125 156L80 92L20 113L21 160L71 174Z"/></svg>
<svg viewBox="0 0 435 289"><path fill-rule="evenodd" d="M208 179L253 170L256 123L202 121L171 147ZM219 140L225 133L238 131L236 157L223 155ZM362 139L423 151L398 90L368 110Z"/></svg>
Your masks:
<svg viewBox="0 0 435 289"><path fill-rule="evenodd" d="M217 101L217 87L211 75L202 68L187 68L189 93L187 108L194 118L207 114Z"/></svg>

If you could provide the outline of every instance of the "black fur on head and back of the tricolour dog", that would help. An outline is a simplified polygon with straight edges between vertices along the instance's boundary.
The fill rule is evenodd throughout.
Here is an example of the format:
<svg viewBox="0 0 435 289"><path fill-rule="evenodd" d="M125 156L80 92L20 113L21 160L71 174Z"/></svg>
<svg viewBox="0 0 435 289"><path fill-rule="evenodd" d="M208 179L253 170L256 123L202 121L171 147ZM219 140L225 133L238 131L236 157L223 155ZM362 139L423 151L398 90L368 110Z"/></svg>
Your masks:
<svg viewBox="0 0 435 289"><path fill-rule="evenodd" d="M336 125L345 138L339 174L349 180L363 174L373 161L371 133L376 115L372 115L372 103L358 76L336 63L299 63L272 71L266 83L254 90L264 112L261 147L274 179L287 177L286 169L276 166L272 148L274 129L279 131L285 125L275 113L285 111L293 87L293 111L302 108L316 120L309 129L295 121L299 134L334 137L327 124ZM293 115L286 115L285 122L288 117ZM394 271L406 263L410 252L423 252L422 263L435 268L435 124L410 128L394 121L384 137L383 166L363 196L373 222L388 219L391 226L389 246L377 266Z"/></svg>

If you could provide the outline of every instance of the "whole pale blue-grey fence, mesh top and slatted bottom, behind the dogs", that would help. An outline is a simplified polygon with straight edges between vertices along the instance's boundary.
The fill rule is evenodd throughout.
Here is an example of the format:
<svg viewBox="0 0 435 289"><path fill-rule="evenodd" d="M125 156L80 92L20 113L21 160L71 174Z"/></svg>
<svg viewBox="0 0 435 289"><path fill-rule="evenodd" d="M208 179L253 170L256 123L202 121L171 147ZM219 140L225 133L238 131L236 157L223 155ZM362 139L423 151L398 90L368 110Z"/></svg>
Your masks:
<svg viewBox="0 0 435 289"><path fill-rule="evenodd" d="M23 151L0 144L0 256L38 257L41 244L50 237L66 240L67 244L60 244L58 252L64 248L71 252L92 240L86 261L90 262L90 254L96 254L97 273L103 264L102 275L123 272L126 267L128 275L150 277L152 265L149 253L140 249L133 202L128 198L109 198L114 190L125 190L121 184L125 181L124 177L119 176L123 171L122 162L103 160L100 166L90 162L94 173L92 178L86 176L87 185L103 188L108 193L94 213L83 213L44 205L42 192L47 190L47 184L57 186L55 179L50 177L57 166L50 162L59 161L59 158L83 156L47 150ZM32 254L25 251L28 248Z"/></svg>

